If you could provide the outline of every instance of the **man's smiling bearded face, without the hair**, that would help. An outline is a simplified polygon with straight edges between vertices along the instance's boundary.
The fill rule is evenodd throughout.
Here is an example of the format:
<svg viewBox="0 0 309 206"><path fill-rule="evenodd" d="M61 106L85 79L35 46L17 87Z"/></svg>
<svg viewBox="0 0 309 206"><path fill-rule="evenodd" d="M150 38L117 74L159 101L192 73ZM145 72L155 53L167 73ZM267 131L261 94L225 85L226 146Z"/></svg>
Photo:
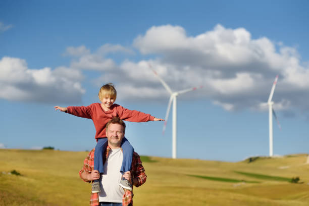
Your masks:
<svg viewBox="0 0 309 206"><path fill-rule="evenodd" d="M124 137L123 126L120 124L110 124L106 130L106 136L110 146L120 147Z"/></svg>

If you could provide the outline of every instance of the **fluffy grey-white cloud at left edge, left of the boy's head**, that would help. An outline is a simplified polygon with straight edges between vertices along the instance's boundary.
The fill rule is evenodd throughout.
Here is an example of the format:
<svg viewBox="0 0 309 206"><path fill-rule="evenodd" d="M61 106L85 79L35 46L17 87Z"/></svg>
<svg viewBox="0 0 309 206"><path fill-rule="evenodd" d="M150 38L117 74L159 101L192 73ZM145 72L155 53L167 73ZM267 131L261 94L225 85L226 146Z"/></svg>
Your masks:
<svg viewBox="0 0 309 206"><path fill-rule="evenodd" d="M70 68L29 69L25 60L3 57L0 71L0 98L8 100L80 102L85 92L82 74Z"/></svg>

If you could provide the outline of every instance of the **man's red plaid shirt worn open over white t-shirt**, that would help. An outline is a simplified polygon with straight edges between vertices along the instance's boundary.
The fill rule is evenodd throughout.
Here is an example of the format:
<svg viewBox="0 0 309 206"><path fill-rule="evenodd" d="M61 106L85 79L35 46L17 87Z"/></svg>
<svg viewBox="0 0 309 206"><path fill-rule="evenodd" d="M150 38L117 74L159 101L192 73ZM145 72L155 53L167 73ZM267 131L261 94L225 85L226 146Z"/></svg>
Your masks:
<svg viewBox="0 0 309 206"><path fill-rule="evenodd" d="M108 146L106 150L106 156L104 156L105 157L104 162L109 155L110 149L111 148ZM91 171L93 170L93 165L94 165L93 160L94 160L94 148L89 152L87 158L84 160L83 168L79 171L80 177L81 177L81 174L84 172L91 173ZM144 167L141 164L140 157L138 153L136 152L133 153L131 174L132 174L132 177L136 177L138 179L138 184L136 185L136 187L139 187L140 185L145 183L147 176L145 174ZM128 206L130 203L131 205L133 205L133 199L132 199L134 195L133 191L131 192L130 190L127 190L127 189L124 189L124 191L125 191L125 194L122 197L122 205ZM90 206L99 206L98 192L91 193Z"/></svg>

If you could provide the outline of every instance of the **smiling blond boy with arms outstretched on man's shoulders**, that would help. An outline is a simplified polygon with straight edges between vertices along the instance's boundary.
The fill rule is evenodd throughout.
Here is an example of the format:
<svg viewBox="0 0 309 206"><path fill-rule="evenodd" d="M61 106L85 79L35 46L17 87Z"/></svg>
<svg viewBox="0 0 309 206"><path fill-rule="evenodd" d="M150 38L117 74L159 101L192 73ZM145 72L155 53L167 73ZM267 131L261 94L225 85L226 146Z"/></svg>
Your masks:
<svg viewBox="0 0 309 206"><path fill-rule="evenodd" d="M119 117L122 120L129 122L148 122L148 121L164 121L163 119L158 119L149 114L138 112L136 110L128 110L120 105L114 104L117 91L112 83L103 85L99 92L98 97L101 103L93 103L87 107L59 107L56 106L56 110L61 112L69 113L77 117L83 117L92 119L96 133L94 138L96 139L96 146L94 150L94 170L98 170L99 173L104 173L103 165L103 153L107 148L108 141L106 136L106 124L113 119L113 117ZM134 148L124 137L122 145L123 151L123 162L120 169L121 173L126 173L131 170L132 157ZM125 189L132 191L132 184L126 180L122 179L119 185ZM92 183L92 193L99 192L99 180L95 180Z"/></svg>

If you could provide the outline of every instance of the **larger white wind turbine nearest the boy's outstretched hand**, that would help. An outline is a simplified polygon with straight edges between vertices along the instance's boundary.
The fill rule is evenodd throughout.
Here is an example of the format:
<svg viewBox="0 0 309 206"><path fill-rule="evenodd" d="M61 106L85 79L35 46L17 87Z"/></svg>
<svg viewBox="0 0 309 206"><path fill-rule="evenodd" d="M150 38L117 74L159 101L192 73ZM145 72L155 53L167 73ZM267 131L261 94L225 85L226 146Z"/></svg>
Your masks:
<svg viewBox="0 0 309 206"><path fill-rule="evenodd" d="M173 101L173 119L172 119L172 158L176 159L176 143L177 143L177 96L179 94L183 94L186 93L188 91L193 91L195 89L197 89L196 87L190 88L190 89L184 89L184 90L180 90L180 91L175 91L173 92L172 89L169 87L169 85L167 85L167 83L165 81L163 81L163 79L158 75L158 73L152 69L151 65L149 64L150 69L153 71L153 73L155 73L155 75L159 78L159 80L161 81L161 83L163 84L163 86L165 87L165 89L171 94L170 96L170 100L169 100L169 105L168 105L168 109L166 111L166 115L165 115L165 123L163 126L163 133L165 132L165 128L166 128L166 124L167 124L167 120L169 118L169 113L170 113L170 109L171 109L171 104ZM200 87L201 88L201 87Z"/></svg>

